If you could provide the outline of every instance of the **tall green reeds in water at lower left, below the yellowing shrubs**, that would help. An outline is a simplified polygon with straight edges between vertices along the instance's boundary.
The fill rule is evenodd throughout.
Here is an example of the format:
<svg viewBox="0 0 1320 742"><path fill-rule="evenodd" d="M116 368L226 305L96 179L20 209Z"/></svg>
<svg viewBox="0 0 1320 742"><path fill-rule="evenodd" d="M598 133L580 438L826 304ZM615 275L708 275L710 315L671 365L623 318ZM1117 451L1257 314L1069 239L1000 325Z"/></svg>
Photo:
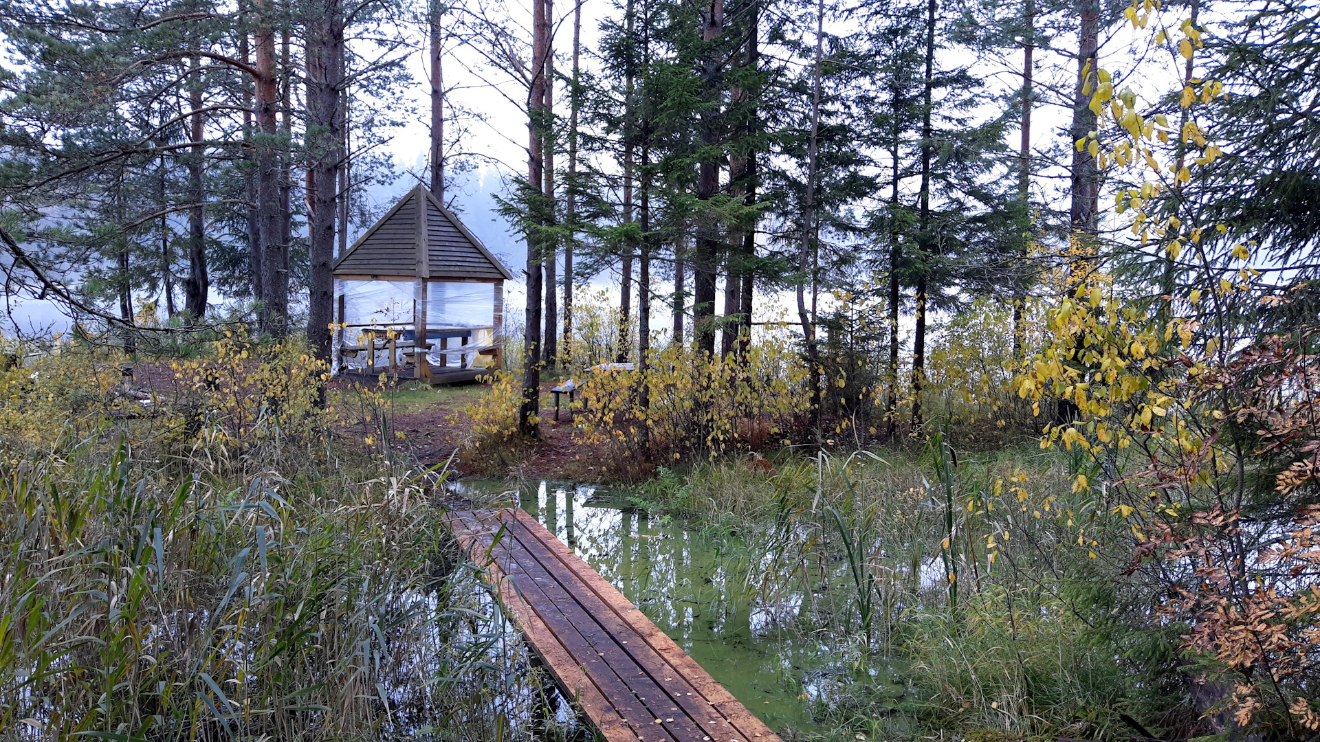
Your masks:
<svg viewBox="0 0 1320 742"><path fill-rule="evenodd" d="M488 718L454 691L490 639L458 621L462 570L414 482L180 482L124 444L0 474L0 729L313 739Z"/></svg>

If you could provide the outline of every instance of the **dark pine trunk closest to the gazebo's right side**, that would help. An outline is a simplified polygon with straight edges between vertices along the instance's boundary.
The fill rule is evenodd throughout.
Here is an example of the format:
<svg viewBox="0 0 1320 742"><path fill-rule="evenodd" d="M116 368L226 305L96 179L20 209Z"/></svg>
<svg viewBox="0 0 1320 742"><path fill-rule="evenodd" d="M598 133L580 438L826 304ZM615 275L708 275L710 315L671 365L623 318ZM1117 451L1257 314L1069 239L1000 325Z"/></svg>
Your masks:
<svg viewBox="0 0 1320 742"><path fill-rule="evenodd" d="M545 51L549 36L544 0L532 0L532 84L527 96L527 182L540 190L545 178L541 144L545 141ZM541 409L541 235L527 235L527 313L523 334L523 403L517 411L519 430L536 436L536 416Z"/></svg>

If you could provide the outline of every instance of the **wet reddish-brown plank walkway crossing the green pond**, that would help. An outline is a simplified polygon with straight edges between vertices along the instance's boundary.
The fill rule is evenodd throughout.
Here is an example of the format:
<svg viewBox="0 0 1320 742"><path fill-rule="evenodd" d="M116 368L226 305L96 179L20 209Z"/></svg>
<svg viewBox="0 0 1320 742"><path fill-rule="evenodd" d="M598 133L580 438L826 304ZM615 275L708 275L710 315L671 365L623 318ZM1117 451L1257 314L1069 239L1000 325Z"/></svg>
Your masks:
<svg viewBox="0 0 1320 742"><path fill-rule="evenodd" d="M609 742L780 742L622 593L521 510L451 511L513 619Z"/></svg>

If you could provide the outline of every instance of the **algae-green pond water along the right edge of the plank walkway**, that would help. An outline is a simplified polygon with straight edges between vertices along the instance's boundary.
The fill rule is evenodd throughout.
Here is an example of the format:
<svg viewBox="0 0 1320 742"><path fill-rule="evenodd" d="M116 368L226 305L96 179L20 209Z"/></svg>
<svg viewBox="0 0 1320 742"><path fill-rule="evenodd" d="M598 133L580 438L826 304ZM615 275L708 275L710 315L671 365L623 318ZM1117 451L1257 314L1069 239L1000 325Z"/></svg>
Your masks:
<svg viewBox="0 0 1320 742"><path fill-rule="evenodd" d="M465 490L507 489L465 479ZM780 589L772 599L742 585L746 561L729 540L671 518L631 510L591 485L541 482L520 492L523 510L558 536L653 621L771 729L813 730L812 708L858 681L833 635L813 639L797 621L810 595ZM754 569L755 572L755 569ZM883 668L882 668L883 669ZM887 669L883 669L888 675Z"/></svg>

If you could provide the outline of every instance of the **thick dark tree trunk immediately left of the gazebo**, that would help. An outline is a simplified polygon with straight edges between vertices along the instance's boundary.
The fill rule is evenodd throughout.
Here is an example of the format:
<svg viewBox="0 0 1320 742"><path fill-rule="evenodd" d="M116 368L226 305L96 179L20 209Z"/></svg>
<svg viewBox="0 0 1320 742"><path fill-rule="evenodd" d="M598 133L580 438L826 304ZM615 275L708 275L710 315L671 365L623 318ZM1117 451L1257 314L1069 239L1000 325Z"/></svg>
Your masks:
<svg viewBox="0 0 1320 742"><path fill-rule="evenodd" d="M323 15L306 25L306 148L308 252L312 261L308 292L308 345L330 360L334 317L335 211L339 140L343 128L343 13L339 0L326 0Z"/></svg>

